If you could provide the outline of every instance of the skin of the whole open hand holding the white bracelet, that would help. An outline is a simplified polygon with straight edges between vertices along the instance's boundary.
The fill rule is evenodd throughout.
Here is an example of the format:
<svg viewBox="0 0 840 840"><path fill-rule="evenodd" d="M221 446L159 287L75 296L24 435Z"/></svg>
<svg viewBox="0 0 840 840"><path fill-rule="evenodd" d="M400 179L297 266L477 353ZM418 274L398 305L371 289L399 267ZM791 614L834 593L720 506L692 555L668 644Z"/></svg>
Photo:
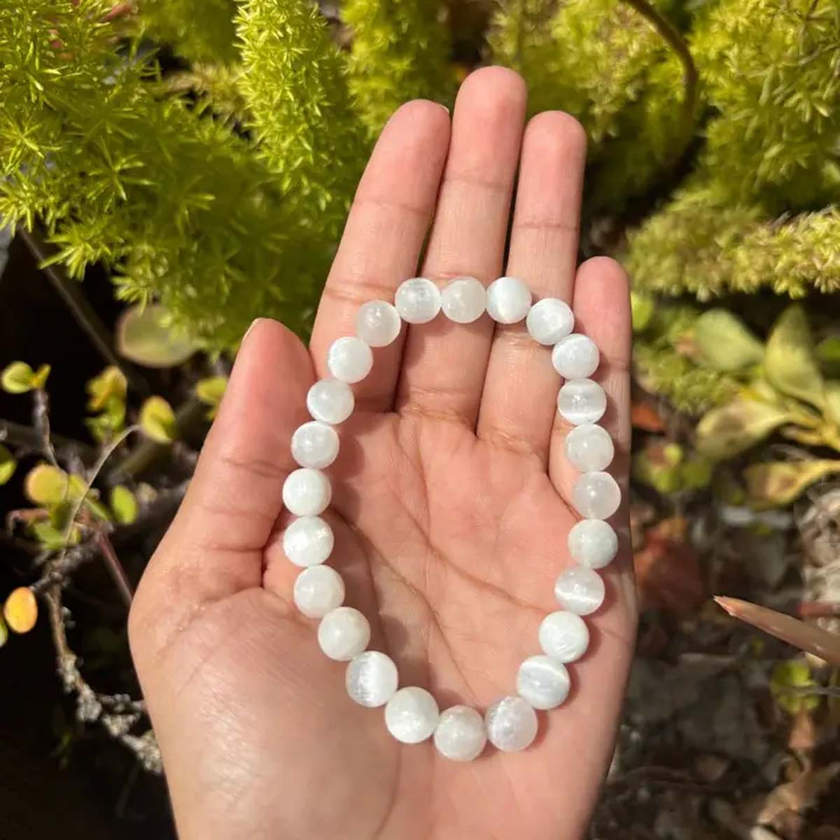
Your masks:
<svg viewBox="0 0 840 840"><path fill-rule="evenodd" d="M316 622L291 602L298 570L281 548L281 488L296 467L289 441L308 419L309 386L328 375L328 346L354 333L361 303L392 300L418 270L438 281L521 276L535 295L573 305L576 329L601 348L611 470L626 490L627 279L603 258L576 268L585 135L564 113L524 126L525 106L522 79L490 67L464 82L451 121L433 102L400 108L360 182L311 346L265 319L244 339L129 624L182 840L585 832L633 650L626 506L569 700L539 713L531 748L488 747L470 764L430 742L396 743L381 710L349 701L344 666L321 654ZM570 564L578 518L559 385L550 349L522 324L439 316L375 350L339 427L329 562L346 581L345 603L370 620L370 648L441 708L484 711L512 693L518 664L539 652L539 622L557 608L554 579Z"/></svg>

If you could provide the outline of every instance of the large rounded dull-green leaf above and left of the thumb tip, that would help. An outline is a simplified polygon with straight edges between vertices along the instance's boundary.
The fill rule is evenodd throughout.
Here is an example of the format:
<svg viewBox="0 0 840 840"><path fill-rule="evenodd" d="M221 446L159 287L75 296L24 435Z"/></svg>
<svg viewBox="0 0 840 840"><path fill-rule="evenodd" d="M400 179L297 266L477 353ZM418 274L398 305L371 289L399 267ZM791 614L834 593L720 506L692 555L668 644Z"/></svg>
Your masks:
<svg viewBox="0 0 840 840"><path fill-rule="evenodd" d="M197 344L171 327L170 315L160 304L137 304L123 312L117 322L119 354L146 367L181 365L197 350Z"/></svg>

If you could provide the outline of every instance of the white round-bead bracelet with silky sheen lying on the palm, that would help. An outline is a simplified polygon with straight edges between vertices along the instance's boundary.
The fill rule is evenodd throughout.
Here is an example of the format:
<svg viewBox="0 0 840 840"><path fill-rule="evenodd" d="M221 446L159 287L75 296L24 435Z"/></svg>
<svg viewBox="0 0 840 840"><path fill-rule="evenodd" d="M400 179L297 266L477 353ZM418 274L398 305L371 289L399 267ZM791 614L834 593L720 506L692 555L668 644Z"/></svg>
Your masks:
<svg viewBox="0 0 840 840"><path fill-rule="evenodd" d="M335 426L350 416L354 396L350 388L370 373L371 347L391 344L402 322L428 323L443 309L455 323L471 323L487 312L497 323L525 319L528 333L539 344L551 346L551 360L565 382L557 407L573 428L565 438L565 453L580 470L572 502L583 519L569 533L569 551L575 565L559 575L554 595L561 609L543 619L538 641L543 654L520 665L517 693L496 701L482 718L470 706L438 711L433 696L423 688L397 688L393 660L380 651L367 650L370 624L344 604L344 581L324 565L333 550L333 532L319 514L332 497L322 472L339 454ZM504 751L521 750L537 734L535 709L552 709L564 702L570 689L566 665L585 653L589 630L582 616L595 612L604 599L598 575L615 557L618 541L604 520L621 502L621 491L605 472L612 462L612 438L595 425L606 411L603 389L589 377L600 354L591 339L572 333L574 316L563 301L549 297L533 304L528 286L516 277L500 277L487 289L475 277L457 277L443 291L424 277L414 277L396 290L395 305L372 301L360 307L355 336L337 339L327 354L333 378L316 382L307 394L312 421L291 438L291 454L301 469L283 485L283 503L298 517L283 535L283 549L292 563L304 567L297 576L293 597L303 615L320 619L318 644L330 659L347 662L346 685L350 698L361 706L385 706L388 731L402 743L420 743L433 737L448 759L470 761L486 741Z"/></svg>

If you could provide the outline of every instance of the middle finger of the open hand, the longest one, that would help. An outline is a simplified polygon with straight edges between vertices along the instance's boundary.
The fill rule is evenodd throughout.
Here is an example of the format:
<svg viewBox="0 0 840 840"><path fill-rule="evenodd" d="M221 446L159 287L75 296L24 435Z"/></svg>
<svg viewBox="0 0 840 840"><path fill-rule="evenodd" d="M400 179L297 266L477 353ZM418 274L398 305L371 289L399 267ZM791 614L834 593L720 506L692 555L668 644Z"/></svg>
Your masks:
<svg viewBox="0 0 840 840"><path fill-rule="evenodd" d="M475 71L461 86L423 276L474 276L487 286L501 272L525 100L522 78L502 67ZM475 428L492 332L486 315L466 325L441 316L409 330L397 408Z"/></svg>

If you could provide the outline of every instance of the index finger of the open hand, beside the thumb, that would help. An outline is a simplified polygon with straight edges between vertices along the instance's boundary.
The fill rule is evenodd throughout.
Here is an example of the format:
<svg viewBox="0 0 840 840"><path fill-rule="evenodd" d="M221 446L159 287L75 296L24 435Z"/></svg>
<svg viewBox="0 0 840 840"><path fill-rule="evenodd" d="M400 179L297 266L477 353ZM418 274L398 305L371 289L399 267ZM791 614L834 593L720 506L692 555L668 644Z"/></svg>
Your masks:
<svg viewBox="0 0 840 840"><path fill-rule="evenodd" d="M312 329L310 347L319 376L328 375L329 345L355 334L360 305L393 302L396 286L417 273L448 148L449 115L435 102L408 102L383 129L356 192ZM354 387L360 407L391 408L404 334L374 350L373 370Z"/></svg>

